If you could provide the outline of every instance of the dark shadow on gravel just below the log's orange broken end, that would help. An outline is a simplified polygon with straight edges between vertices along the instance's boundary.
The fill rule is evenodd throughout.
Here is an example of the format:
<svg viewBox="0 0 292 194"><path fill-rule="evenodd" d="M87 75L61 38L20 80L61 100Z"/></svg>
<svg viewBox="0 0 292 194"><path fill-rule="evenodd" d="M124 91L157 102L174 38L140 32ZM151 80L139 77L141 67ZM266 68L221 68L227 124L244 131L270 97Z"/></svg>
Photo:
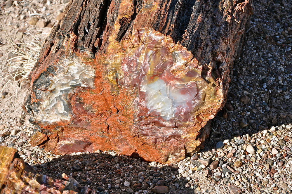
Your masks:
<svg viewBox="0 0 292 194"><path fill-rule="evenodd" d="M168 186L169 193L193 191L184 188L186 177L177 178L178 166L147 163L114 152L64 155L33 167L53 178L61 179L63 173L71 175L81 186L108 193L149 193L154 186ZM197 184L192 186L196 188Z"/></svg>

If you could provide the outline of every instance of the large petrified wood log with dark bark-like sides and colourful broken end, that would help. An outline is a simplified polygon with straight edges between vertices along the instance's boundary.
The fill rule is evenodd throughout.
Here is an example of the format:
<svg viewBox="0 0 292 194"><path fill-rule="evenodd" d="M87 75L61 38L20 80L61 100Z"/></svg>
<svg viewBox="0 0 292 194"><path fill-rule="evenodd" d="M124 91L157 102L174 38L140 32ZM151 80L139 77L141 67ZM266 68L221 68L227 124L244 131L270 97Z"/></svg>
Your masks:
<svg viewBox="0 0 292 194"><path fill-rule="evenodd" d="M73 1L29 77L31 143L183 159L225 104L252 11L251 0Z"/></svg>

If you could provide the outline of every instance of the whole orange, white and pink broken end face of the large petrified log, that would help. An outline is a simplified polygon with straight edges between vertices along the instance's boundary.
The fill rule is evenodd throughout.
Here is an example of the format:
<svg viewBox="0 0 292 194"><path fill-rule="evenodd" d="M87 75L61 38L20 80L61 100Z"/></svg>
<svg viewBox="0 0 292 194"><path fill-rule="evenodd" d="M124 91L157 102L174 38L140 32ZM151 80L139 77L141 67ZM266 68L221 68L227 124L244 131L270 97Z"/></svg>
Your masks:
<svg viewBox="0 0 292 194"><path fill-rule="evenodd" d="M75 53L55 60L30 109L48 133L35 133L32 144L56 154L109 149L159 162L181 160L185 148L200 145L198 115L216 100L211 71L202 77L187 49L154 30L139 29L129 40L110 42L110 54L97 60Z"/></svg>

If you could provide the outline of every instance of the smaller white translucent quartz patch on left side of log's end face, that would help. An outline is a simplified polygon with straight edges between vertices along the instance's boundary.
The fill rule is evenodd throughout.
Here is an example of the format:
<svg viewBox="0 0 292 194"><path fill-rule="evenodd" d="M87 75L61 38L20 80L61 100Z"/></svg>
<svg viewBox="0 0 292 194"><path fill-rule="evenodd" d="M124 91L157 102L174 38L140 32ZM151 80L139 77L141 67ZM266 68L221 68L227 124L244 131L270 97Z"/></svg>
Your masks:
<svg viewBox="0 0 292 194"><path fill-rule="evenodd" d="M57 75L48 76L50 85L47 90L40 90L42 101L40 112L35 114L38 120L53 123L70 120L72 117L70 98L77 87L95 88L95 70L82 63L78 57L60 60L56 66Z"/></svg>

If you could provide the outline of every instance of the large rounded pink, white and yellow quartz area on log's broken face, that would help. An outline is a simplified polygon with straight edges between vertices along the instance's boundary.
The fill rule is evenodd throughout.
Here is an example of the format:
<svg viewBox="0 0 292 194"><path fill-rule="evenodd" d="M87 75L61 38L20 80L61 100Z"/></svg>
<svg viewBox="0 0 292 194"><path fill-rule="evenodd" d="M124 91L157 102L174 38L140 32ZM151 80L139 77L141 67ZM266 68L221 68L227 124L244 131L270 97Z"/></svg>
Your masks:
<svg viewBox="0 0 292 194"><path fill-rule="evenodd" d="M194 112L215 100L217 83L211 68L202 77L202 67L192 53L154 30L139 30L131 41L132 46L122 54L107 59L113 95L121 87L128 87L129 93L135 91L135 127L140 134L157 138L184 135L177 124L195 122Z"/></svg>

